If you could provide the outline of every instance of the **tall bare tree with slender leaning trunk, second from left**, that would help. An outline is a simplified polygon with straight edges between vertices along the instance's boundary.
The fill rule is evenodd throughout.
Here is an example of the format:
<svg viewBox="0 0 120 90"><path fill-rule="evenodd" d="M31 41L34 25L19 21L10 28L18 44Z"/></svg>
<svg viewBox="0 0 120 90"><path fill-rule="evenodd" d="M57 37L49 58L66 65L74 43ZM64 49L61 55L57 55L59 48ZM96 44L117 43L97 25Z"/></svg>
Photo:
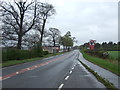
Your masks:
<svg viewBox="0 0 120 90"><path fill-rule="evenodd" d="M40 46L42 46L46 21L55 14L55 9L51 4L37 2L37 12L35 29L40 32Z"/></svg>

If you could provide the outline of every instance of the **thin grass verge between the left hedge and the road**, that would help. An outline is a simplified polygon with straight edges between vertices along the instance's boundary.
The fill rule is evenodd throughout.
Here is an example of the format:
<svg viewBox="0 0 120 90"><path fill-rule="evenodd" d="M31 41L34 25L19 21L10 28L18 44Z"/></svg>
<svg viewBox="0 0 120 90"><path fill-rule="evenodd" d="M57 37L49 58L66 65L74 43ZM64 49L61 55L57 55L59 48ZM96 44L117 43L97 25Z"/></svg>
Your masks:
<svg viewBox="0 0 120 90"><path fill-rule="evenodd" d="M16 65L16 64L21 64L21 63L26 63L26 62L41 60L41 59L43 59L43 58L47 58L47 57L55 56L55 55L60 55L60 54L63 54L63 52L61 52L61 53L56 53L56 54L48 54L48 55L44 55L44 56L42 56L42 57L36 57L36 58L31 58L31 59L10 60L10 61L6 61L6 62L0 64L0 66L2 66L2 67L7 67L7 66Z"/></svg>

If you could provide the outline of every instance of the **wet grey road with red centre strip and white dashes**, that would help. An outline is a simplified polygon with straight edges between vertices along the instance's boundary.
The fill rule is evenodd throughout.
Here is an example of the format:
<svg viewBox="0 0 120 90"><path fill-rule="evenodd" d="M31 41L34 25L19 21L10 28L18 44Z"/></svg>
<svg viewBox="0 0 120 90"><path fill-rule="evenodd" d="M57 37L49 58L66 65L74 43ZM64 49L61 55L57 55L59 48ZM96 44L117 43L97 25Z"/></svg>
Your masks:
<svg viewBox="0 0 120 90"><path fill-rule="evenodd" d="M76 59L78 51L3 68L2 88L105 88Z"/></svg>

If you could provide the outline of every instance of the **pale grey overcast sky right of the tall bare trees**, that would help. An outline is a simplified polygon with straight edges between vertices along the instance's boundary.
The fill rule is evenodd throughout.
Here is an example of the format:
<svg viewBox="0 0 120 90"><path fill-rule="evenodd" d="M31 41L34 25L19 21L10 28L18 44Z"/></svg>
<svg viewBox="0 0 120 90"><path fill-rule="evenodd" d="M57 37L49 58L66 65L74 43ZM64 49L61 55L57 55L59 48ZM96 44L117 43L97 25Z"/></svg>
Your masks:
<svg viewBox="0 0 120 90"><path fill-rule="evenodd" d="M78 41L76 45L90 39L100 43L118 41L118 2L46 1L53 4L57 12L48 20L46 28L56 27L61 31L61 35L70 31Z"/></svg>

